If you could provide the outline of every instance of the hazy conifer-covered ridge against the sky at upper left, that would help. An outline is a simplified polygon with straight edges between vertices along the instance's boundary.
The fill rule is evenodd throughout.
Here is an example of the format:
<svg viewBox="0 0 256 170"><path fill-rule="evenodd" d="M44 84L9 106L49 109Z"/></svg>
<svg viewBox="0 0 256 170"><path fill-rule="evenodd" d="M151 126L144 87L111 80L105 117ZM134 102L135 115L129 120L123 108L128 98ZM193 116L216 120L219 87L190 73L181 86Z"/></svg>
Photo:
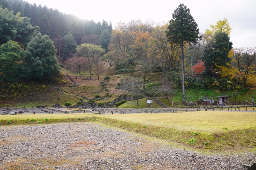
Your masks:
<svg viewBox="0 0 256 170"><path fill-rule="evenodd" d="M88 35L101 36L103 30L108 29L111 33L111 21L108 24L103 20L95 23L93 20L85 20L74 16L73 14L63 14L58 9L47 8L47 6L29 4L23 0L0 0L2 8L8 8L14 11L14 15L21 13L20 17L31 18L32 26L39 26L42 35L48 35L50 38L56 38L57 35L64 37L72 33L77 44L81 44L81 39ZM98 37L99 38L99 37Z"/></svg>

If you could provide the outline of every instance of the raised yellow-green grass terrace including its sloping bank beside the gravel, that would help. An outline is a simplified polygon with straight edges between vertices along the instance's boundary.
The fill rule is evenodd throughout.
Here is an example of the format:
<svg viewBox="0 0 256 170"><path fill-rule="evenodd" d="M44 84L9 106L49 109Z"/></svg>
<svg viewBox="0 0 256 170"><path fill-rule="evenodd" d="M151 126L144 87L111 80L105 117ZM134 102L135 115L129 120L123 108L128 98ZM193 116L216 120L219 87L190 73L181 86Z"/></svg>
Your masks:
<svg viewBox="0 0 256 170"><path fill-rule="evenodd" d="M63 122L100 122L200 150L256 150L254 112L0 115L0 125Z"/></svg>

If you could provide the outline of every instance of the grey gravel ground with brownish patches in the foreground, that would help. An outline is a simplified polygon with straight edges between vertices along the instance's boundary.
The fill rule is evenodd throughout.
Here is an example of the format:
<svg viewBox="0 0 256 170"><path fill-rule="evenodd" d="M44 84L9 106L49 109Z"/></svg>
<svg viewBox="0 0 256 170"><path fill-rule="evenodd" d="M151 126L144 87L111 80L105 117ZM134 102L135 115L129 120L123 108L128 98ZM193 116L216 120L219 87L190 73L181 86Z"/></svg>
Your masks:
<svg viewBox="0 0 256 170"><path fill-rule="evenodd" d="M203 155L96 123L0 126L1 170L246 170L255 159Z"/></svg>

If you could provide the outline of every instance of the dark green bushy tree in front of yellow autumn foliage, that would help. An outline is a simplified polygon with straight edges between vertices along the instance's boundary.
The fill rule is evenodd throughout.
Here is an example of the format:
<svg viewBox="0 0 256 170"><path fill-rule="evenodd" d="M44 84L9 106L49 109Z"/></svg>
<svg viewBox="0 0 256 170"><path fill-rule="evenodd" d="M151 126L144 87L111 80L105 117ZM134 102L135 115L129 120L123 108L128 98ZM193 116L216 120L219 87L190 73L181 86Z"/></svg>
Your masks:
<svg viewBox="0 0 256 170"><path fill-rule="evenodd" d="M227 33L216 32L213 39L206 45L203 50L201 60L204 62L204 66L207 71L212 71L213 78L215 75L215 69L221 66L227 66L227 63L231 61L228 57L229 51L232 49L232 42Z"/></svg>

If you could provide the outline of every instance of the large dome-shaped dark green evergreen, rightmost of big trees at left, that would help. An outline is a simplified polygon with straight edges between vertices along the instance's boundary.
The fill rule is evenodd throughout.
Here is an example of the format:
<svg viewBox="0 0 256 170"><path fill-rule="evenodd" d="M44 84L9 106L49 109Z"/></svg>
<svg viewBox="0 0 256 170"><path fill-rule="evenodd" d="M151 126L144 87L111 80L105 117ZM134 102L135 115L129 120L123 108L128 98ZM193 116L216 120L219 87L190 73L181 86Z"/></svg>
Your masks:
<svg viewBox="0 0 256 170"><path fill-rule="evenodd" d="M27 66L27 78L36 81L48 81L61 71L56 59L57 50L49 36L37 36L29 42L24 52L24 62Z"/></svg>

